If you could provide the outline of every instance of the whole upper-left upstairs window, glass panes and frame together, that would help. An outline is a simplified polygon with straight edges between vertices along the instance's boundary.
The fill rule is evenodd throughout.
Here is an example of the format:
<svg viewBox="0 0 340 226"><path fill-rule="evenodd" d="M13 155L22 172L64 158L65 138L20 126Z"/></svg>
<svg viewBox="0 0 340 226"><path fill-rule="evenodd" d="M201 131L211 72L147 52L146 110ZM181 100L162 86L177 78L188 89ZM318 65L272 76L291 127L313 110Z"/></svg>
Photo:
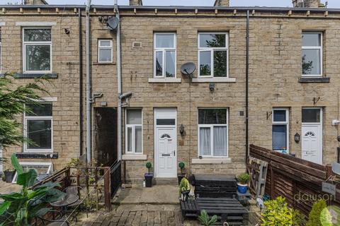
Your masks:
<svg viewBox="0 0 340 226"><path fill-rule="evenodd" d="M52 72L51 28L23 28L23 71Z"/></svg>

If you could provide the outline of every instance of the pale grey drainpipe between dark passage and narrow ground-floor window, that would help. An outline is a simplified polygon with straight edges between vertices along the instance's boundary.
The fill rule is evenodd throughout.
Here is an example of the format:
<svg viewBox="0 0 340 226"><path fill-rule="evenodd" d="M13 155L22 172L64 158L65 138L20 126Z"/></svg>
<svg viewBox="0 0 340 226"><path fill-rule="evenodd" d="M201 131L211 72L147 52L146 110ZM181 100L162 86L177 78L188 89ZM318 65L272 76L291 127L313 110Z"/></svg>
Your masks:
<svg viewBox="0 0 340 226"><path fill-rule="evenodd" d="M120 20L118 11L118 0L115 0L115 17ZM118 23L116 31L116 41L117 41L117 83L118 83L118 161L122 159L122 65L120 59L120 21Z"/></svg>

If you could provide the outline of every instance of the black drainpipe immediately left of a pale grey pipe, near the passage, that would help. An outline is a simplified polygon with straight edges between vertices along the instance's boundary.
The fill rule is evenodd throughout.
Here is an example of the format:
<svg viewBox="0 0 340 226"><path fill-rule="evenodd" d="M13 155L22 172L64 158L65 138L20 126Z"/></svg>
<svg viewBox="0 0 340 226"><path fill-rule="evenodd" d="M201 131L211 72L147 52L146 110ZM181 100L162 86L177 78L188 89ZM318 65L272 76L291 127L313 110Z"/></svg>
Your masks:
<svg viewBox="0 0 340 226"><path fill-rule="evenodd" d="M79 155L83 155L83 35L81 33L81 8L79 18Z"/></svg>

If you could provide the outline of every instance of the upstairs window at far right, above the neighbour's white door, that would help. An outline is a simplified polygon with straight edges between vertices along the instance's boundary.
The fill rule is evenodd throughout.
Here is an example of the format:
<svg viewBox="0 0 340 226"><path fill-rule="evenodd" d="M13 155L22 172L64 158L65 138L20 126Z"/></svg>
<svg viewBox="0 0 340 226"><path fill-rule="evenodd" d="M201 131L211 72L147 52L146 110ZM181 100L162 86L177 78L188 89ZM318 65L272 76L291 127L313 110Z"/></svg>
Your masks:
<svg viewBox="0 0 340 226"><path fill-rule="evenodd" d="M302 76L322 76L322 32L302 32Z"/></svg>

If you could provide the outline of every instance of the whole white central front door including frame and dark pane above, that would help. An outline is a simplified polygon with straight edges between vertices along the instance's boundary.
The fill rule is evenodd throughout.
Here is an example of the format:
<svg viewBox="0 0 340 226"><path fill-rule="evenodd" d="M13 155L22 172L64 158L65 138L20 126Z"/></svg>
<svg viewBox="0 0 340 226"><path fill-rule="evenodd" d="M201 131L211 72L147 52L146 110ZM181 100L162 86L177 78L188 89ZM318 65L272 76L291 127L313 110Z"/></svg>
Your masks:
<svg viewBox="0 0 340 226"><path fill-rule="evenodd" d="M177 175L176 109L154 110L154 173L155 177Z"/></svg>

